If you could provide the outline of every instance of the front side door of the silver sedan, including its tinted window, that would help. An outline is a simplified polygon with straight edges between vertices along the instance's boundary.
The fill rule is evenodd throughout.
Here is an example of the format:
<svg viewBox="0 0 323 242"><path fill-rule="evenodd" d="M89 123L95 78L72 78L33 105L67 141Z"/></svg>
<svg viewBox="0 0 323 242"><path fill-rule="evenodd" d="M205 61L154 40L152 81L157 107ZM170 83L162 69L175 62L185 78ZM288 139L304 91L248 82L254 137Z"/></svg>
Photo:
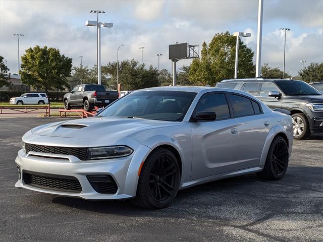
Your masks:
<svg viewBox="0 0 323 242"><path fill-rule="evenodd" d="M214 111L217 118L209 122L192 122L192 172L191 179L198 179L234 169L237 154L235 147L237 135L234 134L239 123L233 117L225 92L204 94L196 112Z"/></svg>

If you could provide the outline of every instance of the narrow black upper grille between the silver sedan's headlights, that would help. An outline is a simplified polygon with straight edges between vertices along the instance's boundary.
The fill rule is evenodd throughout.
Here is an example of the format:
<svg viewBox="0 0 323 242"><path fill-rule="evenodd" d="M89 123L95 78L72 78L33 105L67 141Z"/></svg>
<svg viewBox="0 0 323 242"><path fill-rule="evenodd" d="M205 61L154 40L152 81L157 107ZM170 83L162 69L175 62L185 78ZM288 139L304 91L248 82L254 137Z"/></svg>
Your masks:
<svg viewBox="0 0 323 242"><path fill-rule="evenodd" d="M87 157L87 148L45 146L28 143L25 144L25 148L27 154L29 151L35 151L49 154L74 155L80 160L86 160Z"/></svg>

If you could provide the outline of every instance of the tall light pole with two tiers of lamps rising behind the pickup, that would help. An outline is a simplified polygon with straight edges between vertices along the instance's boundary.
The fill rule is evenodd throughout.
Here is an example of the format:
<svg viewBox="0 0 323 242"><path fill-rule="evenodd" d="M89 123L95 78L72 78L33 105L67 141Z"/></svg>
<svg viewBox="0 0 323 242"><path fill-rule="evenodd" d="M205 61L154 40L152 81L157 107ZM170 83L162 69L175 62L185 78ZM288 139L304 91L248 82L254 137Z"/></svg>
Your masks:
<svg viewBox="0 0 323 242"><path fill-rule="evenodd" d="M112 28L113 23L99 22L99 14L105 14L102 10L91 10L90 13L96 13L96 21L86 21L86 26L97 26L97 83L101 84L101 27Z"/></svg>

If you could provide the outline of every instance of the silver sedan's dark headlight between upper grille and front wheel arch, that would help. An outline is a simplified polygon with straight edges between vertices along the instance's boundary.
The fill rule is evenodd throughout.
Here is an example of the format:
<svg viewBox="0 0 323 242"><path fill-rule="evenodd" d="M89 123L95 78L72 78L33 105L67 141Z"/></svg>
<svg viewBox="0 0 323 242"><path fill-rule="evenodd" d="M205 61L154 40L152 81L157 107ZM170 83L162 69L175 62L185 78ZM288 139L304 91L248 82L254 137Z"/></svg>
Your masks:
<svg viewBox="0 0 323 242"><path fill-rule="evenodd" d="M106 146L89 148L89 159L110 159L131 155L133 150L128 146Z"/></svg>

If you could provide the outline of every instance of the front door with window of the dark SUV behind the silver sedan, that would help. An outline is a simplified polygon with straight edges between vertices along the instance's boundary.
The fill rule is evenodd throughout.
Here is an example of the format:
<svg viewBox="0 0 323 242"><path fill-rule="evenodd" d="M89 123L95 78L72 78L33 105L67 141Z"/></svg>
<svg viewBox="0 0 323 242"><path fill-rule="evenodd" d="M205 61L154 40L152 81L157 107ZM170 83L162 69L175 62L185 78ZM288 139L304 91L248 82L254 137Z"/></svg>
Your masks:
<svg viewBox="0 0 323 242"><path fill-rule="evenodd" d="M257 98L272 109L281 108L282 107L281 99L268 96L268 93L273 91L282 93L278 89L278 87L272 82L260 83L260 88L259 88L259 92L257 93Z"/></svg>

